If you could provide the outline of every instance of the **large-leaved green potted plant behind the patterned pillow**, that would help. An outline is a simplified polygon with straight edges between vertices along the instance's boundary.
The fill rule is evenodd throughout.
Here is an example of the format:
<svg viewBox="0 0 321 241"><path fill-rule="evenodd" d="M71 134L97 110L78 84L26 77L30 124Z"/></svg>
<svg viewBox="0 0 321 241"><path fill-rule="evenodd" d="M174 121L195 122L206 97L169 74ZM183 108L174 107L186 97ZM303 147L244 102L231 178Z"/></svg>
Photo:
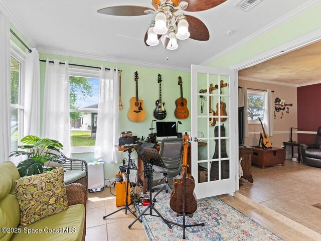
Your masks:
<svg viewBox="0 0 321 241"><path fill-rule="evenodd" d="M50 162L65 163L64 158L59 155L63 145L56 140L30 135L21 139L21 142L24 144L19 146L22 151L14 151L9 156L27 156L27 159L21 161L17 166L21 177L40 174L54 169L55 167L49 167ZM46 162L49 163L45 167L44 164Z"/></svg>

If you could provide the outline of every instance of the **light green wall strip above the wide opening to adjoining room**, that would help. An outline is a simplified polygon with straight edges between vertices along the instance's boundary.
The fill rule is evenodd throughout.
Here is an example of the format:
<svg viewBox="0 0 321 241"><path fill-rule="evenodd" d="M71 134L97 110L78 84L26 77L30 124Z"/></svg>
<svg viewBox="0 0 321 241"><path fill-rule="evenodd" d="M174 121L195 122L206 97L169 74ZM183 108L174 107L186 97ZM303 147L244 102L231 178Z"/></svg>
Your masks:
<svg viewBox="0 0 321 241"><path fill-rule="evenodd" d="M208 65L228 68L320 28L321 4L219 57Z"/></svg>

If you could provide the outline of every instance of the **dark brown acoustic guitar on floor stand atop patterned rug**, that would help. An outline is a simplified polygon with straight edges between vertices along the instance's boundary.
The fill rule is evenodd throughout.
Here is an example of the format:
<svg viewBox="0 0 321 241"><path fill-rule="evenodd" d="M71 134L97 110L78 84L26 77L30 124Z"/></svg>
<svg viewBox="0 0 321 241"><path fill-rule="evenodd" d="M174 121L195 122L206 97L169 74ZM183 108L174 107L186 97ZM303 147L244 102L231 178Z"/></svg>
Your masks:
<svg viewBox="0 0 321 241"><path fill-rule="evenodd" d="M187 133L183 137L183 177L180 179L174 180L174 190L171 194L170 207L178 216L183 216L183 224L171 222L174 225L183 227L183 239L185 239L185 228L195 227L195 226L204 226L205 223L197 223L186 225L185 218L186 216L193 217L194 212L197 209L197 199L194 193L195 181L191 174L187 173L187 157L188 157L188 147L189 147L190 137Z"/></svg>

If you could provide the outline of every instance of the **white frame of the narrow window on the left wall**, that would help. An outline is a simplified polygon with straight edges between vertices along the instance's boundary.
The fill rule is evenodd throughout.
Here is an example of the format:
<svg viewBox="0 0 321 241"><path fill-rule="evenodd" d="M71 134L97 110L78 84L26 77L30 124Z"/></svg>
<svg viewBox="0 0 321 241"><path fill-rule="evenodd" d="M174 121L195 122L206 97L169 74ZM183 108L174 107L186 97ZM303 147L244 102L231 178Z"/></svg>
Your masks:
<svg viewBox="0 0 321 241"><path fill-rule="evenodd" d="M25 114L25 81L26 81L26 56L23 55L18 49L11 46L10 48L10 59L14 58L20 63L20 69L19 69L19 100L18 104L12 104L10 100L10 109L16 108L18 109L18 146L20 146L21 139L24 136L24 114ZM11 82L11 78L9 80ZM11 86L10 86L11 89ZM11 127L11 121L10 121L10 127ZM10 151L11 151L11 145L10 145ZM16 165L23 160L22 156L18 157L10 157L10 161L15 163Z"/></svg>

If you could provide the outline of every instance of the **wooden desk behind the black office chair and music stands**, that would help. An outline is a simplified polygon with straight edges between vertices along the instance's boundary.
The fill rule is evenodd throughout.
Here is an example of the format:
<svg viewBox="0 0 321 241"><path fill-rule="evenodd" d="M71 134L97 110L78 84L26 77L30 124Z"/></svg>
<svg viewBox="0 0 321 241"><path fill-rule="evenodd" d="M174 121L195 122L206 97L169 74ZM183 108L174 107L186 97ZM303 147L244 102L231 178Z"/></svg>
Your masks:
<svg viewBox="0 0 321 241"><path fill-rule="evenodd" d="M207 143L206 142L198 142L198 146L206 146ZM192 163L192 152L191 152L191 147L192 145L189 144L189 148L188 148L188 157L187 157L187 165L189 165L189 167L187 168L187 173L191 173L192 169L191 169L191 163ZM120 147L118 145L115 145L115 148L118 151L124 151L130 147ZM156 149L159 150L161 148L161 146L157 146ZM146 193L146 189L147 189L147 178L145 178L145 174L144 174L144 163L143 161L140 159L140 157L137 157L137 167L138 167L138 180L137 180L137 184L139 184L140 181L142 181L143 183L143 193ZM141 175L140 175L141 174Z"/></svg>

